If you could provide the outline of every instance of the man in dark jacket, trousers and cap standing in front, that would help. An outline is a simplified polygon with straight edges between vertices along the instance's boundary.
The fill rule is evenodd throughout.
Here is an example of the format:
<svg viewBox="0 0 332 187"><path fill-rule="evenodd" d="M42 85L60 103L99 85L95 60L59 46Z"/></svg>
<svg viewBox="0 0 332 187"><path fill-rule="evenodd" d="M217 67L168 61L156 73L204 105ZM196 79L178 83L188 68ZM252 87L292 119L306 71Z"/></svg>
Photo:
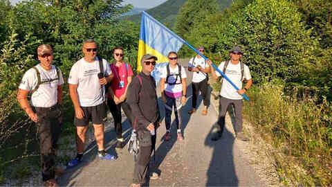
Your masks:
<svg viewBox="0 0 332 187"><path fill-rule="evenodd" d="M140 61L142 72L138 74L128 87L127 103L133 112L133 129L138 133L140 148L133 170L133 184L145 184L149 168L149 160L156 144L156 127L159 125L159 109L156 94L156 81L151 76L157 57L146 54Z"/></svg>

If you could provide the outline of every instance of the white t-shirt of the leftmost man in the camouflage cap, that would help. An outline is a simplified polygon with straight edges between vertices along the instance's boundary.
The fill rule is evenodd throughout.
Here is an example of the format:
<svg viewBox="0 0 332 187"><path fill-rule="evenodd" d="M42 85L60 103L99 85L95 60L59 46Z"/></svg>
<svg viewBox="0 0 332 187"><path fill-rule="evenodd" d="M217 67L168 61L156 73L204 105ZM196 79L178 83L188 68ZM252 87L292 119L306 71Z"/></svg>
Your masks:
<svg viewBox="0 0 332 187"><path fill-rule="evenodd" d="M34 107L52 107L57 104L57 87L64 84L64 78L62 72L59 69L59 79L57 79L57 69L51 65L51 69L47 71L40 64L35 66L40 73L41 82L46 81L43 84L39 84L38 89L33 92L31 96L31 105ZM57 80L53 80L57 79ZM53 80L53 81L50 81ZM35 69L29 69L24 73L19 89L26 91L33 91L37 87L38 78Z"/></svg>

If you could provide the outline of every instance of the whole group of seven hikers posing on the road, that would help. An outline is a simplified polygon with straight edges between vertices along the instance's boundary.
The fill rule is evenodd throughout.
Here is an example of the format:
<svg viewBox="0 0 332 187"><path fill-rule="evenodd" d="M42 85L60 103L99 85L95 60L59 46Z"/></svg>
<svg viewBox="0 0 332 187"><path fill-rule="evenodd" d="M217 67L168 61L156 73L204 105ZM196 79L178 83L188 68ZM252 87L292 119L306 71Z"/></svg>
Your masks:
<svg viewBox="0 0 332 187"><path fill-rule="evenodd" d="M201 54L204 47L197 48ZM160 127L160 112L156 92L156 81L151 76L158 58L145 54L140 63L142 71L133 77L129 63L124 62L124 49L113 48L114 62L109 64L97 56L98 44L93 39L86 40L82 45L84 57L71 67L68 77L68 87L75 116L73 124L76 127L76 157L67 163L67 168L77 166L84 155L84 143L89 122L93 123L95 141L98 145L98 157L104 160L116 160L116 156L104 150L104 119L107 107L111 112L116 130L116 149L124 147L122 137L121 109L137 133L139 152L133 170L131 186L145 184L151 152L156 144L156 129ZM219 69L241 88L236 90L228 81L221 80L219 94L219 130L212 136L212 141L221 138L225 125L225 114L228 105L234 105L235 132L237 139L248 141L242 132L242 94L252 84L250 71L246 64L240 61L243 52L239 46L230 50L230 60L221 62ZM37 48L39 64L26 71L17 93L17 100L29 118L37 124L39 151L42 160L42 180L44 186L57 186L55 175L61 170L55 167L55 151L62 126L62 71L52 64L53 48L42 44ZM170 133L171 115L174 110L177 127L177 140L183 141L182 108L187 100L187 83L185 67L178 64L178 54L170 51L167 55L169 63L160 75L160 94L165 106L166 133L163 140L172 139ZM192 72L192 109L197 108L199 92L203 97L202 115L208 114L210 96L208 91L208 73L212 78L219 78L212 62L201 55L192 57L188 62L188 71ZM246 84L243 86L243 80ZM30 101L28 100L30 95ZM158 177L158 176L157 176ZM151 179L154 177L151 177Z"/></svg>

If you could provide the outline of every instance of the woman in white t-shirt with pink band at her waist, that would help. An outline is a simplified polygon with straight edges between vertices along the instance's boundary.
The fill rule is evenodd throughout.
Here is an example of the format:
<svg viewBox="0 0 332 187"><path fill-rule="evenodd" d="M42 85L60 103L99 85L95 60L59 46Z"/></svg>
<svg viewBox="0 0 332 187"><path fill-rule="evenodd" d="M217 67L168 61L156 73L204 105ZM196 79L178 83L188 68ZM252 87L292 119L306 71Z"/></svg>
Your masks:
<svg viewBox="0 0 332 187"><path fill-rule="evenodd" d="M165 141L169 141L171 134L171 115L174 107L175 121L177 126L178 140L183 140L181 132L182 125L182 107L185 105L187 83L185 82L187 75L183 66L178 64L178 54L174 51L168 53L169 64L165 66L160 75L160 91L161 97L165 104L165 125L166 134Z"/></svg>

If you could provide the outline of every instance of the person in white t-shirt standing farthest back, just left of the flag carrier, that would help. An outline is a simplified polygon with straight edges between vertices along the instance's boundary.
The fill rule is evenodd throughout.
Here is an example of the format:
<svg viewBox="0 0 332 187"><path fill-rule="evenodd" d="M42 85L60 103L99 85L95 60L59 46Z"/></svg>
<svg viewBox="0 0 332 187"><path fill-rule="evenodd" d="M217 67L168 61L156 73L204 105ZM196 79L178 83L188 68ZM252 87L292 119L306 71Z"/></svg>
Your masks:
<svg viewBox="0 0 332 187"><path fill-rule="evenodd" d="M204 54L204 47L199 46L197 48L200 53ZM192 109L189 114L196 112L197 98L199 96L199 91L203 97L204 108L202 110L202 115L208 114L208 107L210 105L210 96L208 96L208 80L210 72L210 66L205 62L205 59L200 55L192 57L188 64L188 70L192 71Z"/></svg>

